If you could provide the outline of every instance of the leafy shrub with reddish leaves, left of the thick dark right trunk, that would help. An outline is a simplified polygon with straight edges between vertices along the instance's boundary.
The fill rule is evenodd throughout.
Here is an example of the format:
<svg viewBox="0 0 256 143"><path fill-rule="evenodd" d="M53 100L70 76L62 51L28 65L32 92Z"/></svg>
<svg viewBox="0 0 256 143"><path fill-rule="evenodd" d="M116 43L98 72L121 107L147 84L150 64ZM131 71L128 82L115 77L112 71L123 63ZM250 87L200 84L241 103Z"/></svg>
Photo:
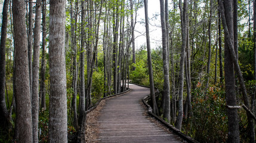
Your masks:
<svg viewBox="0 0 256 143"><path fill-rule="evenodd" d="M227 114L225 92L211 86L206 91L201 83L192 91L193 117L184 120L186 133L200 142L225 142L227 139Z"/></svg>

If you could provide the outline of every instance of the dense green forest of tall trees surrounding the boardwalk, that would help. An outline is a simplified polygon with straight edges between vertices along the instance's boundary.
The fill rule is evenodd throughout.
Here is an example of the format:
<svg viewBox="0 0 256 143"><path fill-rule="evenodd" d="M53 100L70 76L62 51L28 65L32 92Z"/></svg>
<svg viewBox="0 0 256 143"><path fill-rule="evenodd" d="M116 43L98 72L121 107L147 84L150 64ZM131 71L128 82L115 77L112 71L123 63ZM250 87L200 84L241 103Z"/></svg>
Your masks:
<svg viewBox="0 0 256 143"><path fill-rule="evenodd" d="M129 83L196 141L255 142L255 0L158 2L1 0L0 142L85 142L86 111Z"/></svg>

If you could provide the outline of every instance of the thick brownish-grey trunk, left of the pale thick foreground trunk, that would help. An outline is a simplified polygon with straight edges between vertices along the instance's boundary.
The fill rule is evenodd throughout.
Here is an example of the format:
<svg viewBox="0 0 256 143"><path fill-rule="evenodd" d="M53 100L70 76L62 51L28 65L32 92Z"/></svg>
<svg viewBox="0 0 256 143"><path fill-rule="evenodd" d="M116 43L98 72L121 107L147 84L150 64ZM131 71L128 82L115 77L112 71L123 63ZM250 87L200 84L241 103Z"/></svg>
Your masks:
<svg viewBox="0 0 256 143"><path fill-rule="evenodd" d="M15 48L16 123L20 142L32 142L32 113L30 102L29 57L26 33L26 3L13 1L13 29Z"/></svg>

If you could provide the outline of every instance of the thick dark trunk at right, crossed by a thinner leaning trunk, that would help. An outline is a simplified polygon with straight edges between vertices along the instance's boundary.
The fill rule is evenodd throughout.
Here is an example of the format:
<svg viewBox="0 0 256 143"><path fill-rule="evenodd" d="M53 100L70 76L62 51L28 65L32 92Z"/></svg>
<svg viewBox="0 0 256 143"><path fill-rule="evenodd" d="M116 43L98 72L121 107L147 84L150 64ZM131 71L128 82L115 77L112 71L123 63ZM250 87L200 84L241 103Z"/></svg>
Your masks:
<svg viewBox="0 0 256 143"><path fill-rule="evenodd" d="M235 74L234 74L234 66L232 63L232 53L229 50L228 41L232 41L232 45L234 42L234 29L233 29L233 7L232 1L227 0L223 2L220 0L220 10L221 10L221 18L223 27L228 29L225 31L225 62L224 62L224 71L225 71L225 85L226 85L226 104L235 106L236 105L236 93L235 93ZM227 15L227 17L225 17ZM224 18L227 20L224 21ZM225 23L225 24L224 24ZM230 35L228 37L227 35ZM230 38L230 39L228 39ZM234 50L234 47L231 47ZM227 109L227 116L228 116L228 125L229 125L229 132L228 132L228 139L227 142L239 142L239 119L238 119L238 109L236 108L228 108Z"/></svg>

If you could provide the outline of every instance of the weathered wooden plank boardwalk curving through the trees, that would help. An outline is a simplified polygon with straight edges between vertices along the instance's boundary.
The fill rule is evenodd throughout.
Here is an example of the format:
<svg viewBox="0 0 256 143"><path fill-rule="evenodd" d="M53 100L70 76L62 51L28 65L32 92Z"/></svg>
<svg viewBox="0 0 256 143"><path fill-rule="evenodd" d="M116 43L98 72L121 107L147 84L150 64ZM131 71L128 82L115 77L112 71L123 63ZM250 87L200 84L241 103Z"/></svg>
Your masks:
<svg viewBox="0 0 256 143"><path fill-rule="evenodd" d="M149 88L130 85L128 94L107 100L98 116L100 142L184 142L149 119L141 101Z"/></svg>

